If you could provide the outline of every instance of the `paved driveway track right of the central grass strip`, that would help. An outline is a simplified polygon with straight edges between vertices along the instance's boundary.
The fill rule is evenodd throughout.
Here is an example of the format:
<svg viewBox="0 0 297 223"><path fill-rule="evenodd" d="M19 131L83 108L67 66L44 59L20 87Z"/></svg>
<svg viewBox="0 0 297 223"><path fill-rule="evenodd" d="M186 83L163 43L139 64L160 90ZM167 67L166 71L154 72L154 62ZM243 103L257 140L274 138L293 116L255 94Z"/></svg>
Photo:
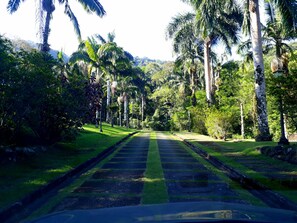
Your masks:
<svg viewBox="0 0 297 223"><path fill-rule="evenodd" d="M224 201L248 204L226 182L186 152L177 140L162 133L157 136L170 202Z"/></svg>

